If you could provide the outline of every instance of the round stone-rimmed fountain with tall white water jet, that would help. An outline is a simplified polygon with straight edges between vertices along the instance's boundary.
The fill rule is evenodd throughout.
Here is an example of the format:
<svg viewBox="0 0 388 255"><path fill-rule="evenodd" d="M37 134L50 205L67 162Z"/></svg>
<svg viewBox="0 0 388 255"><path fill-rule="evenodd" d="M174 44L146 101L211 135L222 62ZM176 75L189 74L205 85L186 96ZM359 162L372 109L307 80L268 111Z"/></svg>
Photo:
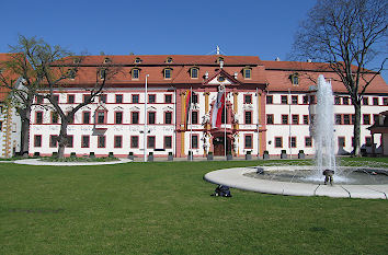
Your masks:
<svg viewBox="0 0 388 255"><path fill-rule="evenodd" d="M388 197L385 167L338 166L334 150L333 92L331 82L318 77L316 118L312 136L316 165L275 165L218 170L205 175L212 183L260 193L383 198ZM300 161L300 163L306 163ZM334 185L326 186L323 171L334 171ZM330 182L331 183L331 182Z"/></svg>

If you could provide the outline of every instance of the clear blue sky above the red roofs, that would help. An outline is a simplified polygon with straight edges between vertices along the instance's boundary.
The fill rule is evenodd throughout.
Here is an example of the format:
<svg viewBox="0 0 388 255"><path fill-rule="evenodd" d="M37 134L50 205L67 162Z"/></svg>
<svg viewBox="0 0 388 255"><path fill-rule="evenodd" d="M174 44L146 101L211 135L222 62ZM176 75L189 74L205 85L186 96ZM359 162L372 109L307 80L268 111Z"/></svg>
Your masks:
<svg viewBox="0 0 388 255"><path fill-rule="evenodd" d="M73 53L225 55L286 60L313 0L12 0L0 15L0 53L18 34ZM384 76L387 80L387 76Z"/></svg>

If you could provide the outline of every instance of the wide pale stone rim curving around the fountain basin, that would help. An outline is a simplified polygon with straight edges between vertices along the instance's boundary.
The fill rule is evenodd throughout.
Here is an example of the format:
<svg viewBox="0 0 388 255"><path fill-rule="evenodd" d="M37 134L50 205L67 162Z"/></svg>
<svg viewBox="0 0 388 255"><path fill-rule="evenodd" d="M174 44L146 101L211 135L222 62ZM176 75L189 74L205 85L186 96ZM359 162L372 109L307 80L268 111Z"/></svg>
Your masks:
<svg viewBox="0 0 388 255"><path fill-rule="evenodd" d="M346 198L387 199L388 185L320 185L260 179L244 176L254 169L236 167L207 173L204 178L210 183L256 193L289 196L328 196Z"/></svg>

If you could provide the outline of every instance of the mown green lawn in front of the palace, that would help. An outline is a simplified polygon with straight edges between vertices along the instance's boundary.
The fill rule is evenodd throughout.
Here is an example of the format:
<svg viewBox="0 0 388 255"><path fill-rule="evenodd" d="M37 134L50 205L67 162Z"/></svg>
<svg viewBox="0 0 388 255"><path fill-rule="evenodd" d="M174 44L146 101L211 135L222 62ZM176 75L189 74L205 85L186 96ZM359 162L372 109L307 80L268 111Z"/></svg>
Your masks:
<svg viewBox="0 0 388 255"><path fill-rule="evenodd" d="M0 254L388 254L387 200L209 196L205 173L258 163L1 163Z"/></svg>

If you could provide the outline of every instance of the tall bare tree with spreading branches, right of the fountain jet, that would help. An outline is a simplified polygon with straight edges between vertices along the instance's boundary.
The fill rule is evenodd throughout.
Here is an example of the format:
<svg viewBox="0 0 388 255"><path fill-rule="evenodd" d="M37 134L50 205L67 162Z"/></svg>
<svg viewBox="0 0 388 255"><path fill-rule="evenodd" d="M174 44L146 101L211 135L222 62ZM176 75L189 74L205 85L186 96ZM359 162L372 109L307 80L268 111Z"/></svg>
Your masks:
<svg viewBox="0 0 388 255"><path fill-rule="evenodd" d="M301 22L293 45L298 59L327 62L354 106L354 155L360 155L361 102L387 58L369 68L386 46L386 0L318 0Z"/></svg>

